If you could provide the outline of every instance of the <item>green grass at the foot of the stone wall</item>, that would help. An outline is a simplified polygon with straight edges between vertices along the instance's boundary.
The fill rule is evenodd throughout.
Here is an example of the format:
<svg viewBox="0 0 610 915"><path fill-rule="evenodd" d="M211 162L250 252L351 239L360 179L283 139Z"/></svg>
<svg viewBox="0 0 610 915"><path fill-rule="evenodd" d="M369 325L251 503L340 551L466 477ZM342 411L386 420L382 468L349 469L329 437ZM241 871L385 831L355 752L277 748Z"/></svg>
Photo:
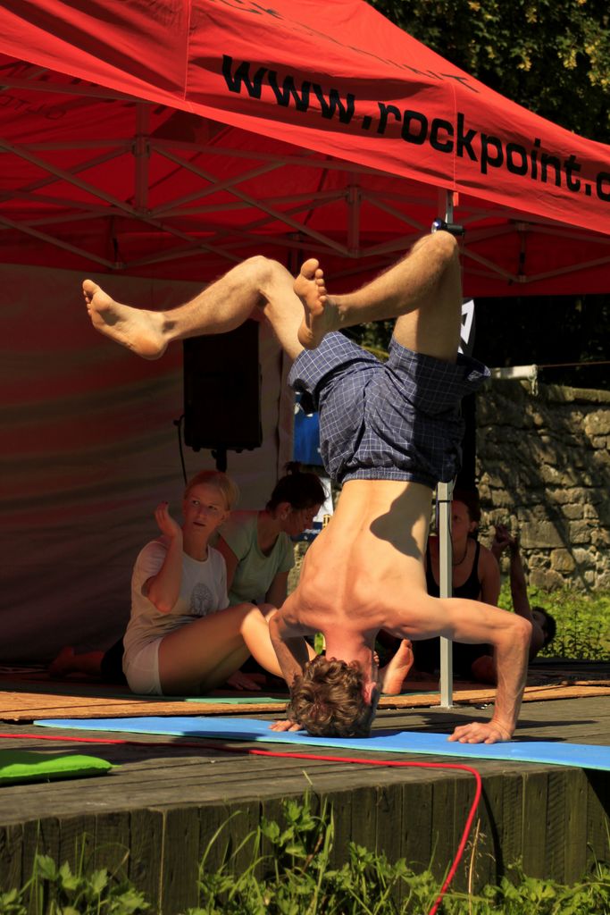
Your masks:
<svg viewBox="0 0 610 915"><path fill-rule="evenodd" d="M540 658L563 658L573 661L610 661L610 593L584 594L570 588L555 591L528 590L530 605L540 606L557 622L557 635ZM512 607L510 590L505 583L499 606Z"/></svg>

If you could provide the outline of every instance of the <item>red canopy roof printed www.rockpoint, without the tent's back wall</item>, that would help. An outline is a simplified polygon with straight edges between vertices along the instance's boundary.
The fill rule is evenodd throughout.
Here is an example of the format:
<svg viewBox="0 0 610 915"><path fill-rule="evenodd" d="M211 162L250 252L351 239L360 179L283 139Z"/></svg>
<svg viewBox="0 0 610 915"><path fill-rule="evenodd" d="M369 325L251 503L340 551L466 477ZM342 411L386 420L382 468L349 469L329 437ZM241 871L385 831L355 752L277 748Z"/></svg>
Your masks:
<svg viewBox="0 0 610 915"><path fill-rule="evenodd" d="M9 0L2 259L208 279L320 253L354 282L455 194L468 295L607 290L610 154L362 0Z"/></svg>

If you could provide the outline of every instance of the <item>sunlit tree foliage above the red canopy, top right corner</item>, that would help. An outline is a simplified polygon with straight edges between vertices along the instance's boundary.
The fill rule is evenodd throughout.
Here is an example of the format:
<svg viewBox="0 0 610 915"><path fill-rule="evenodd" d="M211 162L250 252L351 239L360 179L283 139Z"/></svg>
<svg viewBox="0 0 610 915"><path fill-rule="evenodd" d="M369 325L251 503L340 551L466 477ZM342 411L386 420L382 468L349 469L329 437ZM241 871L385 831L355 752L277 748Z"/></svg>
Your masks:
<svg viewBox="0 0 610 915"><path fill-rule="evenodd" d="M607 0L369 0L513 102L610 142Z"/></svg>

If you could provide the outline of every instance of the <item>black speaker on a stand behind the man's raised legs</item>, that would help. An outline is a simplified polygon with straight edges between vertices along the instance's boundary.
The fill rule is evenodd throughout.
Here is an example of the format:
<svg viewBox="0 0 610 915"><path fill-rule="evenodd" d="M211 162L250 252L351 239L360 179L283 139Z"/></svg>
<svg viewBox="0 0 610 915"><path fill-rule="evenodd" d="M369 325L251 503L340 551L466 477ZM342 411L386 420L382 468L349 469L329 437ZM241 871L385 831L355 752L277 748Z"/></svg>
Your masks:
<svg viewBox="0 0 610 915"><path fill-rule="evenodd" d="M194 451L262 444L259 326L184 340L184 440Z"/></svg>

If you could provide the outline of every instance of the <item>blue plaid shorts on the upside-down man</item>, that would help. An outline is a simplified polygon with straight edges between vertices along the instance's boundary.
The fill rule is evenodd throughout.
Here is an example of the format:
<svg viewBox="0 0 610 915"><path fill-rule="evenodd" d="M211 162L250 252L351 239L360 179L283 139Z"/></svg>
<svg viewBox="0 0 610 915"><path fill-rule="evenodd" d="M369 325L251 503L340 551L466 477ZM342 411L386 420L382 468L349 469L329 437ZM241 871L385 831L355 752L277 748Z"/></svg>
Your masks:
<svg viewBox="0 0 610 915"><path fill-rule="evenodd" d="M305 412L319 411L320 453L337 483L405 479L433 488L462 459L462 398L489 377L482 362L444 362L392 339L380 362L340 333L304 350L288 378Z"/></svg>

